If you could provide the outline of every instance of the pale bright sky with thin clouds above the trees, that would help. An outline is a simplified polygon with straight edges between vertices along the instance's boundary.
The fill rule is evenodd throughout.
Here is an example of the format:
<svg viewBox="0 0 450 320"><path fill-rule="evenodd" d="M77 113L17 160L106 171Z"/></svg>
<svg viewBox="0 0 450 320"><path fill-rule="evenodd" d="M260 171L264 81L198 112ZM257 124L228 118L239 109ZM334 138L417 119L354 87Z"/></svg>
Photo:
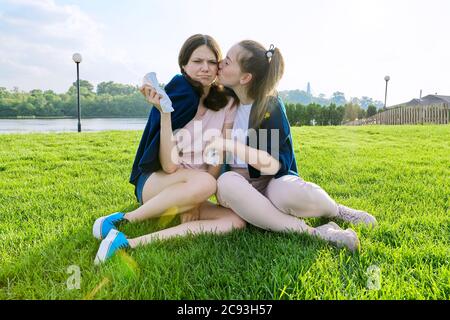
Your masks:
<svg viewBox="0 0 450 320"><path fill-rule="evenodd" d="M285 60L279 90L333 92L388 105L450 95L448 0L0 0L0 87L66 92L80 77L94 85L137 85L154 71L179 73L178 51L209 34L224 55L252 39Z"/></svg>

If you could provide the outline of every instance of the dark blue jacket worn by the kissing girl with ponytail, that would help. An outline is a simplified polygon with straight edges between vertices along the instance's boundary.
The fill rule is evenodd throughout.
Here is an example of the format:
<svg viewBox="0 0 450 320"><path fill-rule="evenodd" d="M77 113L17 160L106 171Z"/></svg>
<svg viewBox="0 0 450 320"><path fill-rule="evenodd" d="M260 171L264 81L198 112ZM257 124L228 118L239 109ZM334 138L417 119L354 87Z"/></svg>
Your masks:
<svg viewBox="0 0 450 320"><path fill-rule="evenodd" d="M251 112L253 111L254 108L252 107ZM255 129L256 145L250 145L250 136L247 136L247 145L259 150L267 151L267 153L280 162L280 169L275 174L275 178L287 174L298 176L291 129L283 101L279 97L274 97L271 99L267 111L268 112L259 128ZM265 130L261 131L261 129ZM276 129L278 129L278 141L276 139L276 131L272 131ZM273 134L275 134L274 141L272 141ZM276 146L272 146L272 143L278 143L278 150ZM251 178L259 178L261 176L261 172L251 165L248 165L248 172Z"/></svg>

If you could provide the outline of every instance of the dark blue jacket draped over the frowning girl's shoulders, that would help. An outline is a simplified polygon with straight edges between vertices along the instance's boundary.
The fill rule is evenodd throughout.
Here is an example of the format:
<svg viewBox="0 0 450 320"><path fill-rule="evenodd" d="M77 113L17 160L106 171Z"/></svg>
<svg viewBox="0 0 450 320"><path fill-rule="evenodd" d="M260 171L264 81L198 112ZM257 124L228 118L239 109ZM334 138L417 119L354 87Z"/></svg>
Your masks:
<svg viewBox="0 0 450 320"><path fill-rule="evenodd" d="M171 113L172 130L183 128L195 117L200 97L183 75L173 77L164 90L172 100L174 109ZM159 161L160 124L161 114L158 109L152 108L130 175L130 183L135 186L141 173L149 174L162 168Z"/></svg>

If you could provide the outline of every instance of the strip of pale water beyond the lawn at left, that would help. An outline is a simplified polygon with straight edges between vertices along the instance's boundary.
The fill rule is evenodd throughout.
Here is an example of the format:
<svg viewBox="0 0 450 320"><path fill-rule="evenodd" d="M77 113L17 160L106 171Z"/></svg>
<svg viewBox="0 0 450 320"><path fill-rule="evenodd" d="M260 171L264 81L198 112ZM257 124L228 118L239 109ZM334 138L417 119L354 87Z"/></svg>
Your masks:
<svg viewBox="0 0 450 320"><path fill-rule="evenodd" d="M144 130L147 118L81 119L81 131ZM0 119L0 134L76 132L78 119Z"/></svg>

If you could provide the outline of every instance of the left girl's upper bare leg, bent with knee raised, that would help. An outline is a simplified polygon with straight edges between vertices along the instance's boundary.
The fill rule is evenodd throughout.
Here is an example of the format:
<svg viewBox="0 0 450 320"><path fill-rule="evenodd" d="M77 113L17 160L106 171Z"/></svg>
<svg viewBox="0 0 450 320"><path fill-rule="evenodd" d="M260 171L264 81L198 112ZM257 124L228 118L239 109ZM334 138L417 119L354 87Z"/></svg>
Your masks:
<svg viewBox="0 0 450 320"><path fill-rule="evenodd" d="M179 169L172 174L158 171L144 185L144 204L125 215L130 222L179 214L207 200L216 191L216 180L206 172Z"/></svg>

